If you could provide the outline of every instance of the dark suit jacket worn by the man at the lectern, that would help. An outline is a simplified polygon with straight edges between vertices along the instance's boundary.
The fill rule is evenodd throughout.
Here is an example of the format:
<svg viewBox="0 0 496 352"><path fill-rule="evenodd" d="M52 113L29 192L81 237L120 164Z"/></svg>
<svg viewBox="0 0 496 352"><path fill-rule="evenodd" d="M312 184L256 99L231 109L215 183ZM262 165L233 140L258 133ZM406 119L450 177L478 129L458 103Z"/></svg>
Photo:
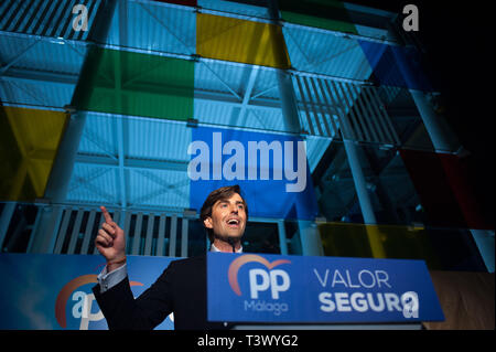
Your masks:
<svg viewBox="0 0 496 352"><path fill-rule="evenodd" d="M206 255L172 262L137 299L128 278L104 294L96 285L93 292L111 330L151 330L171 312L177 330L231 328L231 324L207 321Z"/></svg>

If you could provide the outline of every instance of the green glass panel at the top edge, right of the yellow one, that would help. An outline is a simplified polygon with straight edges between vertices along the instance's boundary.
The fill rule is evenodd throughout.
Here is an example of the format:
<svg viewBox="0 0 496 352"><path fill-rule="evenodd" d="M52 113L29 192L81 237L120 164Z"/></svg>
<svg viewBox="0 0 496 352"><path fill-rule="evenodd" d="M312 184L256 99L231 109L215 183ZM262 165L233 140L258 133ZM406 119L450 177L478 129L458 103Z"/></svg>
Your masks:
<svg viewBox="0 0 496 352"><path fill-rule="evenodd" d="M284 0L279 8L287 22L358 34L341 1Z"/></svg>

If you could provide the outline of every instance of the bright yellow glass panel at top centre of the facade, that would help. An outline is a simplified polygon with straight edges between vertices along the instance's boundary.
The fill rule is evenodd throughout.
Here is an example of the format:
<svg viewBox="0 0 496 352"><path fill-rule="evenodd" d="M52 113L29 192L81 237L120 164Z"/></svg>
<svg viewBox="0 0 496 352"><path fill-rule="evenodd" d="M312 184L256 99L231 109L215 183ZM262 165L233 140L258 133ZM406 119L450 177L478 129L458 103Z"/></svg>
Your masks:
<svg viewBox="0 0 496 352"><path fill-rule="evenodd" d="M196 53L277 68L291 66L281 26L206 13L196 15Z"/></svg>

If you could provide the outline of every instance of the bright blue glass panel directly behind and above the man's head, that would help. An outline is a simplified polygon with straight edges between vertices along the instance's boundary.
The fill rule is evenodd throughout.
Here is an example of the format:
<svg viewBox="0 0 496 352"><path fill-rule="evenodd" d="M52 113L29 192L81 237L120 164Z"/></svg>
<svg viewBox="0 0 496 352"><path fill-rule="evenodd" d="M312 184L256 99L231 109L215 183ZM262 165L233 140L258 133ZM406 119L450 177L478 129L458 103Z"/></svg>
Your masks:
<svg viewBox="0 0 496 352"><path fill-rule="evenodd" d="M196 127L187 152L190 206L198 212L208 193L239 184L250 216L314 220L317 214L301 138Z"/></svg>

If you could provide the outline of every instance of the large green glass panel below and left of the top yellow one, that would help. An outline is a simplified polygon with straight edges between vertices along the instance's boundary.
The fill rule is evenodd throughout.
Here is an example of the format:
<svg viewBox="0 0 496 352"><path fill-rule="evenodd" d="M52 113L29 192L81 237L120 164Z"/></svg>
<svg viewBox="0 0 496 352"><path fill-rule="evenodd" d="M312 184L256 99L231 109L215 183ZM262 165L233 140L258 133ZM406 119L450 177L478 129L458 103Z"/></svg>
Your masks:
<svg viewBox="0 0 496 352"><path fill-rule="evenodd" d="M73 98L79 110L187 120L194 62L93 47Z"/></svg>

